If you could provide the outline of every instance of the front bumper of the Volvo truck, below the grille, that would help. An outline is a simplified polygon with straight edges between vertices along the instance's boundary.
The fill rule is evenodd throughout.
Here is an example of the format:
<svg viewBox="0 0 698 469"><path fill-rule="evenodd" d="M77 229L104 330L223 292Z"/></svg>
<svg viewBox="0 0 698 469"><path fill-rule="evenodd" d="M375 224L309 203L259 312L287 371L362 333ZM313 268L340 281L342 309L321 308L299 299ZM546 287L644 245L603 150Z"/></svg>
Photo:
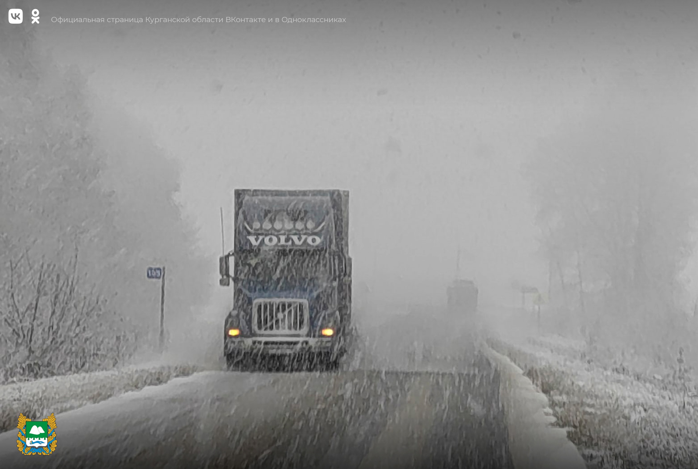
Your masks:
<svg viewBox="0 0 698 469"><path fill-rule="evenodd" d="M332 337L226 337L225 355L302 355L333 353L338 341Z"/></svg>

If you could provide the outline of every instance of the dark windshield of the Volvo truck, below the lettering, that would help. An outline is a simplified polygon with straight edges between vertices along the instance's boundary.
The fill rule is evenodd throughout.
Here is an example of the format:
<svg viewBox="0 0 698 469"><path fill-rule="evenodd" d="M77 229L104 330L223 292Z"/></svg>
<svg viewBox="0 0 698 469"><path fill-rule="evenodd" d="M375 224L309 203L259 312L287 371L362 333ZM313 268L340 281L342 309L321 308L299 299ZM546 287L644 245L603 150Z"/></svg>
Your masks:
<svg viewBox="0 0 698 469"><path fill-rule="evenodd" d="M235 276L285 286L322 286L332 275L325 249L269 249L239 254Z"/></svg>

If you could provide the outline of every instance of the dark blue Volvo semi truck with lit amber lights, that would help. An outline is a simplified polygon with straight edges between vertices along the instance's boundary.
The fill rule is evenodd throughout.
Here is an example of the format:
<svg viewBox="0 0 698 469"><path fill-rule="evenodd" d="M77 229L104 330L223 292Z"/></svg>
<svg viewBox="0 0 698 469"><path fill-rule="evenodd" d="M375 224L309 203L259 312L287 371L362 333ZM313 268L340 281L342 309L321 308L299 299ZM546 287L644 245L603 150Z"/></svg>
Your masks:
<svg viewBox="0 0 698 469"><path fill-rule="evenodd" d="M234 232L219 259L228 368L272 356L336 368L352 335L349 192L235 190Z"/></svg>

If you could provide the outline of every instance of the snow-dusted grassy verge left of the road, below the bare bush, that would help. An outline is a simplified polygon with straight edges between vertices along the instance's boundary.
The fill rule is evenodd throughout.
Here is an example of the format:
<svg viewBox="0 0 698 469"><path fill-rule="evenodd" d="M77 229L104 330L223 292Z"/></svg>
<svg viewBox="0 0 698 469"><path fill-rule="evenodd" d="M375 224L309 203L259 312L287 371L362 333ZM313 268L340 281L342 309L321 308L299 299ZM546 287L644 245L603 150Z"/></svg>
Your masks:
<svg viewBox="0 0 698 469"><path fill-rule="evenodd" d="M15 427L20 413L43 418L145 386L167 383L172 378L188 376L202 369L194 364L154 364L2 385L0 432Z"/></svg>

